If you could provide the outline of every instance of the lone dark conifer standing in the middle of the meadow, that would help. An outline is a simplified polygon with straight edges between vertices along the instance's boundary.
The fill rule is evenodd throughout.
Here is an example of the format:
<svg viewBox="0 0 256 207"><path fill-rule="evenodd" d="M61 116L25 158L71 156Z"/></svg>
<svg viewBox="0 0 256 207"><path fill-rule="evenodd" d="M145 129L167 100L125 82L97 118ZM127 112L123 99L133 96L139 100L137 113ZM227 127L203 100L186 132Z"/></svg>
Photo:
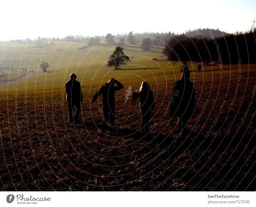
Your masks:
<svg viewBox="0 0 256 207"><path fill-rule="evenodd" d="M120 65L126 65L126 62L131 62L130 58L124 55L123 49L124 48L117 47L113 54L109 56L108 67L114 66L115 70L118 70Z"/></svg>

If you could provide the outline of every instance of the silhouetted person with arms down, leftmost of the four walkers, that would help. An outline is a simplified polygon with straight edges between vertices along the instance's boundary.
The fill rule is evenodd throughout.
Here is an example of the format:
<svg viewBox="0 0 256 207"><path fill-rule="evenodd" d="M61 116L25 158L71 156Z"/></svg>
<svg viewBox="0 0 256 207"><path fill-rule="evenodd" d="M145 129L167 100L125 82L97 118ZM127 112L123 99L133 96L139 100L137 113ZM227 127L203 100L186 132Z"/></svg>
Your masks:
<svg viewBox="0 0 256 207"><path fill-rule="evenodd" d="M81 102L83 101L83 95L81 85L76 81L76 74L71 73L69 81L66 83L65 91L68 102L68 118L69 123L78 121L78 117L81 111ZM73 116L73 108L76 106L76 113Z"/></svg>

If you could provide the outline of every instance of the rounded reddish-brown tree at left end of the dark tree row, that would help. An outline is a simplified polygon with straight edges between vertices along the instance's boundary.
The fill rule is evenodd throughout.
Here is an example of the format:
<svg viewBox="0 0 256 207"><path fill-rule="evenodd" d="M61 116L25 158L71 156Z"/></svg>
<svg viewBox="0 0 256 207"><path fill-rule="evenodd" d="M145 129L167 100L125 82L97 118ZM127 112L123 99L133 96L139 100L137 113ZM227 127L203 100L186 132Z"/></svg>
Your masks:
<svg viewBox="0 0 256 207"><path fill-rule="evenodd" d="M194 59L195 50L191 39L186 34L178 34L171 38L165 45L163 53L167 55L168 60L184 64L184 70L187 69L187 62Z"/></svg>

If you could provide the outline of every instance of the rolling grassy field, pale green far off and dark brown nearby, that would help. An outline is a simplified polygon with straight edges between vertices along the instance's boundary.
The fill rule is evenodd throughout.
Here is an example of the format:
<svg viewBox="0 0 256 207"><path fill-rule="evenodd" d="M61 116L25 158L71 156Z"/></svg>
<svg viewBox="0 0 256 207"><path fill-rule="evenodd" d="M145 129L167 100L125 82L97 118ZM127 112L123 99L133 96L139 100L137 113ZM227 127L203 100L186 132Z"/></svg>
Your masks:
<svg viewBox="0 0 256 207"><path fill-rule="evenodd" d="M114 70L106 66L112 44L35 45L0 42L0 190L255 190L255 64L237 60L220 70L212 62L198 72L199 63L190 62L198 111L188 135L179 137L168 103L180 63L166 61L164 47L124 45L131 62ZM50 64L47 72L39 67L43 61ZM76 73L84 98L75 125L68 123L65 96L70 73ZM91 101L110 78L124 89L116 92L116 129L102 133L101 97ZM155 98L145 137L139 133L139 100L125 103L128 87L139 90L142 81Z"/></svg>

